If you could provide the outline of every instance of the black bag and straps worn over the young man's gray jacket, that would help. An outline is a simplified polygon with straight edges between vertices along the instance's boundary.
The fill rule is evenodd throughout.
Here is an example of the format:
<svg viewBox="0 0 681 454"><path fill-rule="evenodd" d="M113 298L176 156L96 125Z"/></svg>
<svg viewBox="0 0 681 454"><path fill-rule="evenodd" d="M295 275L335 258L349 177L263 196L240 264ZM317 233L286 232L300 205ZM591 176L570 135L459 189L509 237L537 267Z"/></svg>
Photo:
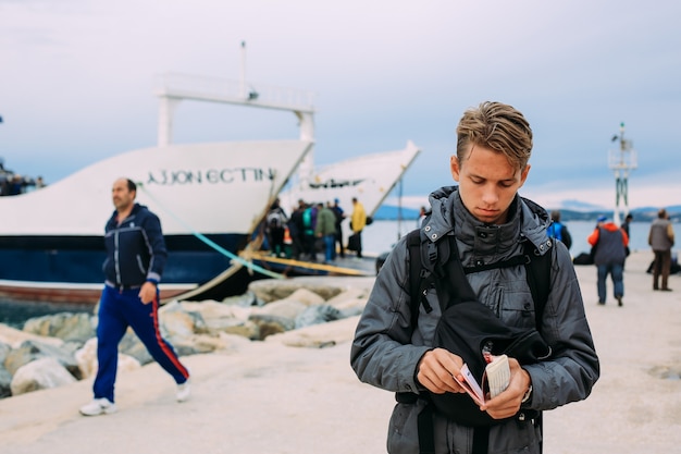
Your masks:
<svg viewBox="0 0 681 454"><path fill-rule="evenodd" d="M418 323L420 305L423 305L426 312L433 310L425 298L429 287L435 287L443 309L433 346L442 346L461 356L479 381L485 367L482 355L484 346L492 346L493 355L508 354L520 364L536 363L550 356L550 347L536 329L506 326L490 308L478 302L466 278L466 274L472 272L524 266L528 285L535 302L535 327L538 327L549 293L550 254L535 255L534 246L528 242L522 255L495 263L463 268L459 260L456 237L453 234L446 235L437 243L431 243L425 237L421 237L420 230L414 230L408 234L407 246L410 259L409 289L412 327ZM411 393L398 393L397 401L413 402L416 400L416 395L411 394L406 397L405 394ZM434 452L432 415L435 410L459 424L475 428L473 452L486 452L490 426L505 421L495 420L486 413L480 412L468 394L428 393L428 404L418 419L419 444L422 453ZM521 418L520 414L523 419L541 425L540 412L521 409L518 418Z"/></svg>

